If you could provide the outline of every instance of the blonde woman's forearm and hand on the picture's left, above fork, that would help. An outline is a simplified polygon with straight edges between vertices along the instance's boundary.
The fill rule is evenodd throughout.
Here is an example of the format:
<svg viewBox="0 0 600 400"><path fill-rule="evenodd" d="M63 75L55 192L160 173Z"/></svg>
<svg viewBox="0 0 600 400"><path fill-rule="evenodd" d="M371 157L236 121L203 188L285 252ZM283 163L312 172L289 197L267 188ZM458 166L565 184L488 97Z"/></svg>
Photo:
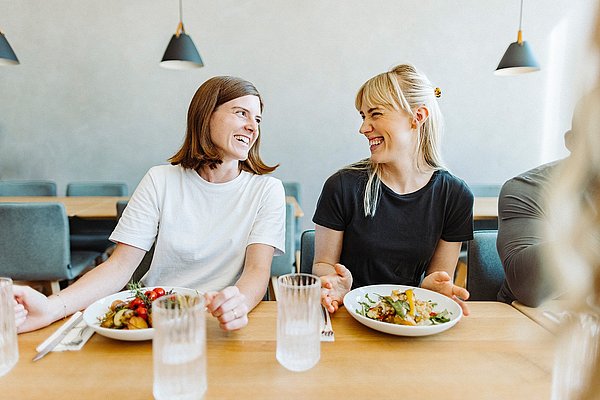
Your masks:
<svg viewBox="0 0 600 400"><path fill-rule="evenodd" d="M352 288L352 274L339 263L343 231L315 225L313 273L321 277L321 303L331 313L337 311Z"/></svg>

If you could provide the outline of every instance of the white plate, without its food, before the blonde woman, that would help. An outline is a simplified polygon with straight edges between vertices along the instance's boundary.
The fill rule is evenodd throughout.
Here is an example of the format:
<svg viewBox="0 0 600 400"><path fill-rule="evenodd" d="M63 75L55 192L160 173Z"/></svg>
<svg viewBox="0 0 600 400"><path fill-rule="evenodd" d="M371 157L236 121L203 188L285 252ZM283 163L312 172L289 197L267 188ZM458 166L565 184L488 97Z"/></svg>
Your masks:
<svg viewBox="0 0 600 400"><path fill-rule="evenodd" d="M434 303L437 303L437 305L434 307L434 311L441 312L443 310L448 310L450 312L450 321L445 322L443 324L424 326L397 325L389 322L381 322L371 318L363 317L362 315L356 312L356 310L362 309L362 306L358 304L358 302L366 301L365 294L368 294L371 300L377 301L378 297L375 296L375 294L389 296L392 293L392 290L400 290L403 292L407 289L413 289L415 297L418 300L431 300ZM435 333L440 333L452 328L462 318L462 309L454 300L442 294L432 292L431 290L417 288L413 286L371 285L356 288L350 291L348 294L346 294L346 296L344 297L344 306L346 307L346 310L348 310L350 315L352 315L354 319L356 319L358 322L377 331L399 336L433 335Z"/></svg>

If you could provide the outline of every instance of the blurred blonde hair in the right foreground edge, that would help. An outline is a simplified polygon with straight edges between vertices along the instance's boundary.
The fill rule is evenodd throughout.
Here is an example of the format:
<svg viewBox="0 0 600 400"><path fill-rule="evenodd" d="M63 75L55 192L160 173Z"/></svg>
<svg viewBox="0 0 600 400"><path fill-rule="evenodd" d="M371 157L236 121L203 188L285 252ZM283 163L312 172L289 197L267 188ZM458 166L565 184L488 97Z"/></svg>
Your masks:
<svg viewBox="0 0 600 400"><path fill-rule="evenodd" d="M600 379L600 89L580 101L573 121L575 145L549 199L549 261L575 311L563 330L554 394L592 399Z"/></svg>

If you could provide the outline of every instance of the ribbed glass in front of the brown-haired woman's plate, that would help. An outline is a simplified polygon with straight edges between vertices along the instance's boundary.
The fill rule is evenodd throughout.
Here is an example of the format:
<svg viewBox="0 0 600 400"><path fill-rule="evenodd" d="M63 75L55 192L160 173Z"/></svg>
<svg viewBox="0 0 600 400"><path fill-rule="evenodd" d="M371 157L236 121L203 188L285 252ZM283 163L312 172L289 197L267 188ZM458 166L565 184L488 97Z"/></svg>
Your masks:
<svg viewBox="0 0 600 400"><path fill-rule="evenodd" d="M204 297L166 295L152 303L154 398L197 400L206 393Z"/></svg>

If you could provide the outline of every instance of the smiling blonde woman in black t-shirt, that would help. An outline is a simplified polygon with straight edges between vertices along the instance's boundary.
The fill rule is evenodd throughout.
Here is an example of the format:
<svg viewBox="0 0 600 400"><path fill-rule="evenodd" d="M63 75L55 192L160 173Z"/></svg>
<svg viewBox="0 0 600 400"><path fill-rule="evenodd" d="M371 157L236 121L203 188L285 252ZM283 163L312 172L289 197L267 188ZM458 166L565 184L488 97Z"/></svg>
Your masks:
<svg viewBox="0 0 600 400"><path fill-rule="evenodd" d="M371 157L325 182L313 217L313 272L330 312L353 287L392 283L440 292L468 314L469 293L452 277L461 242L473 237L473 194L444 169L440 95L411 65L359 89Z"/></svg>

